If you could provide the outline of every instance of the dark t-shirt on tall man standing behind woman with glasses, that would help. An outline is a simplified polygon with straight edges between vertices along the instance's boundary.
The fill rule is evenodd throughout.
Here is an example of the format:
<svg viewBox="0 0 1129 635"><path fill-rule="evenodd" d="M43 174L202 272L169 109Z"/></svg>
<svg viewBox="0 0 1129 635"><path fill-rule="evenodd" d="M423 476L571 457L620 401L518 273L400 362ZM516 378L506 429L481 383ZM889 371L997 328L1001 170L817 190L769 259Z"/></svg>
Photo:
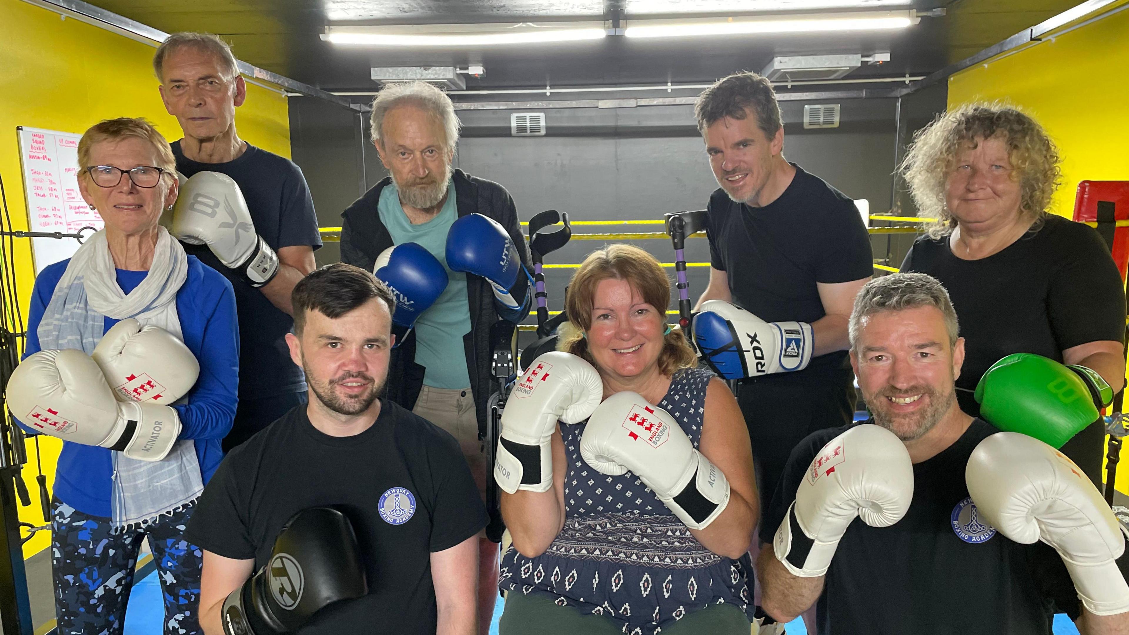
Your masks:
<svg viewBox="0 0 1129 635"><path fill-rule="evenodd" d="M228 163L196 163L184 158L181 142L173 142L176 169L185 176L198 172L227 174L239 185L255 232L274 251L280 247L322 246L314 200L301 169L290 159L247 143L238 158ZM260 289L224 267L208 245L184 245L184 251L219 271L235 289L239 315L239 399L262 399L306 390L306 377L294 362L286 334L294 320L279 311Z"/></svg>

